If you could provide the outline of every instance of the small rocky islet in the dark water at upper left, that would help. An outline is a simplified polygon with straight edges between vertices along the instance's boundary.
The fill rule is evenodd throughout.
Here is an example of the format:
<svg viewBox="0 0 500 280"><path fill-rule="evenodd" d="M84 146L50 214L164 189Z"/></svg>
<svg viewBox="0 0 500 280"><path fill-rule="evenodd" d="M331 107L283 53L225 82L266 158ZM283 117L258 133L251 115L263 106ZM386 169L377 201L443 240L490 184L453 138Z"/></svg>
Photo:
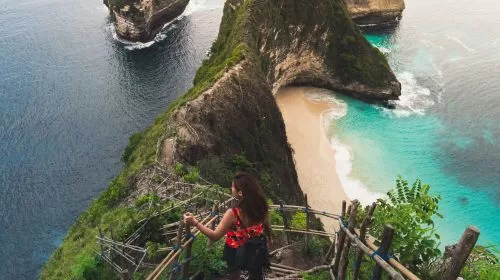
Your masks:
<svg viewBox="0 0 500 280"><path fill-rule="evenodd" d="M116 34L147 42L163 25L182 14L189 0L104 0L115 18Z"/></svg>

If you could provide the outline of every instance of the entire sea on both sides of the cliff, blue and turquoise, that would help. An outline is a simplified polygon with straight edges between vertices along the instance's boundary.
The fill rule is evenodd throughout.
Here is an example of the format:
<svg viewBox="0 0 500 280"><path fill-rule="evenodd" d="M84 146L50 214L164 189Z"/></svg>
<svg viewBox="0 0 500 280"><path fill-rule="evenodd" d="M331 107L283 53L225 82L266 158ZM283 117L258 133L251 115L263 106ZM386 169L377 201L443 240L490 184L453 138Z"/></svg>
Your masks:
<svg viewBox="0 0 500 280"><path fill-rule="evenodd" d="M119 40L102 1L0 0L0 279L36 279L122 168L132 133L192 85L223 0L191 0L151 42ZM500 4L407 0L365 31L403 86L395 109L338 95L337 173L362 201L398 175L442 197L445 244L500 244Z"/></svg>

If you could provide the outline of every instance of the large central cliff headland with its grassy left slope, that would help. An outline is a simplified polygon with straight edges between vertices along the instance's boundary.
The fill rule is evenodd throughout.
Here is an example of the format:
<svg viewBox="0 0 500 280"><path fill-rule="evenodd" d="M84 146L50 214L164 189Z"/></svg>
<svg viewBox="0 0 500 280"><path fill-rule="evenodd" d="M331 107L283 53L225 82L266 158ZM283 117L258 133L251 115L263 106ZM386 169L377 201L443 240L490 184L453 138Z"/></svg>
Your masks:
<svg viewBox="0 0 500 280"><path fill-rule="evenodd" d="M124 170L76 221L42 279L76 272L102 278L109 268L92 261L98 227L112 225L118 240L132 233L147 215L130 203L141 182L152 181L154 170L176 169L176 162L198 167L223 186L222 170L245 165L273 200L302 204L273 95L292 85L325 87L369 101L400 95L387 60L353 25L342 0L228 0L219 36L193 88L131 138Z"/></svg>

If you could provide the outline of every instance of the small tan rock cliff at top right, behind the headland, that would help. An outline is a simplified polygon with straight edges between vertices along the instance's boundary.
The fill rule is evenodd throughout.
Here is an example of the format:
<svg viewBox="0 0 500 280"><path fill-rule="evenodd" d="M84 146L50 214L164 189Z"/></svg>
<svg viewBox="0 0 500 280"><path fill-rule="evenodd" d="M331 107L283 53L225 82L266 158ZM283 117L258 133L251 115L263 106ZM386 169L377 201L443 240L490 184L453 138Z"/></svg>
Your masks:
<svg viewBox="0 0 500 280"><path fill-rule="evenodd" d="M359 25L394 24L405 9L404 0L346 0L346 5Z"/></svg>

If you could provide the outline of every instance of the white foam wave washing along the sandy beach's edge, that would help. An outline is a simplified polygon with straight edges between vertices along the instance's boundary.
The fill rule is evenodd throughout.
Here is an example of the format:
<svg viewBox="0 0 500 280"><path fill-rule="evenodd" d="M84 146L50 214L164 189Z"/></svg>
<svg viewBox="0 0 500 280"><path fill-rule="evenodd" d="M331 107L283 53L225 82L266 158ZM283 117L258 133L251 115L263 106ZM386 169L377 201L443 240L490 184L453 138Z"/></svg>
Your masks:
<svg viewBox="0 0 500 280"><path fill-rule="evenodd" d="M359 200L363 205L368 205L382 197L383 194L371 192L360 180L352 178L353 155L350 147L336 137L330 140L330 144L335 150L335 169L346 195L350 199Z"/></svg>

